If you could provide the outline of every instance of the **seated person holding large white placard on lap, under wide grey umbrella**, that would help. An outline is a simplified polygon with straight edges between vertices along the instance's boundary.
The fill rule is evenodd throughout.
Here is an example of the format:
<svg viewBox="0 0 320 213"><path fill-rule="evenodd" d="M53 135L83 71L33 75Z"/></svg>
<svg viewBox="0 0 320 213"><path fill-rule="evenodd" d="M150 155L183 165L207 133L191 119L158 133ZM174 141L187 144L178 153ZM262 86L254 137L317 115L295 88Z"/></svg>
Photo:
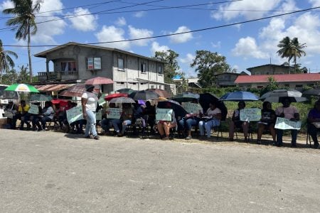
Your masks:
<svg viewBox="0 0 320 213"><path fill-rule="evenodd" d="M296 107L290 107L290 104L291 104L291 101L289 97L284 97L282 99L282 107L278 107L275 110L276 115L284 119L289 119L290 121L299 121L300 115L299 115L298 109ZM296 148L298 130L290 129L290 131L292 136L291 147ZM277 129L277 146L283 146L282 136L283 136L283 129Z"/></svg>

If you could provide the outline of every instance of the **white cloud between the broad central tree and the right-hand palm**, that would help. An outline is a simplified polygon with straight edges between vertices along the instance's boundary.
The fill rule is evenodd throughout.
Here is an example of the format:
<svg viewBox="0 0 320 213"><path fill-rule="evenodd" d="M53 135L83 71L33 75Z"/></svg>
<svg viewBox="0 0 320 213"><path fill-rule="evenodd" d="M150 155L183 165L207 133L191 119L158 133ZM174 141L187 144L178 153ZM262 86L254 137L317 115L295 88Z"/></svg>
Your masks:
<svg viewBox="0 0 320 213"><path fill-rule="evenodd" d="M267 53L264 53L259 49L255 42L255 38L249 36L247 38L240 38L232 52L233 55L242 56L244 58L269 58Z"/></svg>

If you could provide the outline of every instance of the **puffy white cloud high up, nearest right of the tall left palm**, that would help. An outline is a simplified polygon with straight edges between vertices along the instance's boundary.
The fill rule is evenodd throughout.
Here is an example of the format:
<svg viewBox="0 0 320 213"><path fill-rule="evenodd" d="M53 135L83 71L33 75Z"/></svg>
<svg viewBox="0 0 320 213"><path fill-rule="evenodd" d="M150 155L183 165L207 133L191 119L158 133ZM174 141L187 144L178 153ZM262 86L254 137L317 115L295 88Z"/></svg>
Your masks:
<svg viewBox="0 0 320 213"><path fill-rule="evenodd" d="M82 9L81 7L74 9L73 13L67 13L67 17L72 23L72 28L75 28L78 31L95 31L97 28L97 16L94 16L90 13L88 9ZM81 16L85 15L85 16Z"/></svg>

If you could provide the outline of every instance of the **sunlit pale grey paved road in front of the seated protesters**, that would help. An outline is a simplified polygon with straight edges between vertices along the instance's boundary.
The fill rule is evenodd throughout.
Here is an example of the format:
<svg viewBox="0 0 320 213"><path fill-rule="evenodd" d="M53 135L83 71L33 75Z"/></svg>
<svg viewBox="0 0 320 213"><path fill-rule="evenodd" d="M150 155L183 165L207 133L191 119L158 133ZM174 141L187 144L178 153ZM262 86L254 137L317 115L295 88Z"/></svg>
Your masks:
<svg viewBox="0 0 320 213"><path fill-rule="evenodd" d="M0 129L0 212L320 212L320 150Z"/></svg>

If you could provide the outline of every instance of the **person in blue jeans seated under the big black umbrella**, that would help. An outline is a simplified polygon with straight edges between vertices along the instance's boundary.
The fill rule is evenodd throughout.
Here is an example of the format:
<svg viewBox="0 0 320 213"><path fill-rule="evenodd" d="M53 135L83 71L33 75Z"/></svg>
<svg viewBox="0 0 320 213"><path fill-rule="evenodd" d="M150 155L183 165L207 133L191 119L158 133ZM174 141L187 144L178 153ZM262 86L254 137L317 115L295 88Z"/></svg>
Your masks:
<svg viewBox="0 0 320 213"><path fill-rule="evenodd" d="M207 116L208 119L199 122L200 136L204 136L204 129L206 129L207 138L210 138L211 129L214 126L220 126L221 110L216 106L215 102L211 102L204 116Z"/></svg>

